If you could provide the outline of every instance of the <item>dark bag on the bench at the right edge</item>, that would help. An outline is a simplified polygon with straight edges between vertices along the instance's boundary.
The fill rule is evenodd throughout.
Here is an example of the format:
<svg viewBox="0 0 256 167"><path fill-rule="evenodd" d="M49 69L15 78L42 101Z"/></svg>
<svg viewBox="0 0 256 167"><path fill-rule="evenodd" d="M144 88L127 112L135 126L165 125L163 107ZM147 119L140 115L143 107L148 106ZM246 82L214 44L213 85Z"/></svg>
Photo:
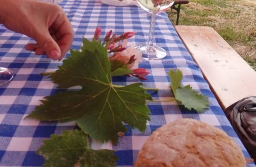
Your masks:
<svg viewBox="0 0 256 167"><path fill-rule="evenodd" d="M256 97L245 97L224 112L252 158L256 159Z"/></svg>

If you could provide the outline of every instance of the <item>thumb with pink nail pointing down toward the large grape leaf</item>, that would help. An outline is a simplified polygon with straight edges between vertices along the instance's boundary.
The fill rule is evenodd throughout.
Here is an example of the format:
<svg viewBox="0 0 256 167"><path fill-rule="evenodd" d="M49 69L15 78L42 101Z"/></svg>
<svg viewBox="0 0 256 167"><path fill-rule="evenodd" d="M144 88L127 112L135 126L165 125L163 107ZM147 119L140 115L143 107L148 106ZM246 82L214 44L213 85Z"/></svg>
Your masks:
<svg viewBox="0 0 256 167"><path fill-rule="evenodd" d="M49 32L40 34L35 41L46 52L47 58L58 60L61 57L61 49L56 41L51 37Z"/></svg>

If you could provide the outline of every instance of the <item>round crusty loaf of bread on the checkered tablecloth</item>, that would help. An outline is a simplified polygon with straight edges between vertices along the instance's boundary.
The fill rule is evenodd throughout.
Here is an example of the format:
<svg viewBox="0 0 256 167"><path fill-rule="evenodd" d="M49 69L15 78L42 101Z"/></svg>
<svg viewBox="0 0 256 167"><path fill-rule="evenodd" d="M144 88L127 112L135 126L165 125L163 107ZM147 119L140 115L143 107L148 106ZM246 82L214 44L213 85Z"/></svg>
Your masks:
<svg viewBox="0 0 256 167"><path fill-rule="evenodd" d="M144 143L135 167L245 167L239 146L221 129L179 119L156 129Z"/></svg>

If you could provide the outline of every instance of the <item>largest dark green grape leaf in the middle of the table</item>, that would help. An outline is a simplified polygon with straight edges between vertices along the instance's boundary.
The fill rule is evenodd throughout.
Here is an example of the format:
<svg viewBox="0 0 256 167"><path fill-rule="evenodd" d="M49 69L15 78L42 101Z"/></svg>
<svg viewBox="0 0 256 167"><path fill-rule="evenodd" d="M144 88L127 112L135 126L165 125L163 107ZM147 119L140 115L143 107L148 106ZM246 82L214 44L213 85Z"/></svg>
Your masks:
<svg viewBox="0 0 256 167"><path fill-rule="evenodd" d="M102 142L118 140L118 132L131 128L144 131L149 121L146 100L152 97L142 83L115 87L111 83L110 63L105 47L93 40L83 40L81 51L71 51L50 76L61 88L80 85L81 90L47 96L28 116L40 120L67 122L75 120L91 137Z"/></svg>

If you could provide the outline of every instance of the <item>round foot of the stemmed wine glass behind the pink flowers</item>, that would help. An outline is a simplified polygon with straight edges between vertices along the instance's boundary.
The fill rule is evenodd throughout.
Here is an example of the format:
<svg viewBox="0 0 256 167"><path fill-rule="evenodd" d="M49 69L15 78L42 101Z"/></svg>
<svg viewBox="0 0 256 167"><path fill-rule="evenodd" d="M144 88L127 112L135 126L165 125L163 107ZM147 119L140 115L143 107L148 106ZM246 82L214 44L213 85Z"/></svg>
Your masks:
<svg viewBox="0 0 256 167"><path fill-rule="evenodd" d="M135 47L141 50L144 60L160 60L166 57L166 51L158 46L139 45Z"/></svg>

